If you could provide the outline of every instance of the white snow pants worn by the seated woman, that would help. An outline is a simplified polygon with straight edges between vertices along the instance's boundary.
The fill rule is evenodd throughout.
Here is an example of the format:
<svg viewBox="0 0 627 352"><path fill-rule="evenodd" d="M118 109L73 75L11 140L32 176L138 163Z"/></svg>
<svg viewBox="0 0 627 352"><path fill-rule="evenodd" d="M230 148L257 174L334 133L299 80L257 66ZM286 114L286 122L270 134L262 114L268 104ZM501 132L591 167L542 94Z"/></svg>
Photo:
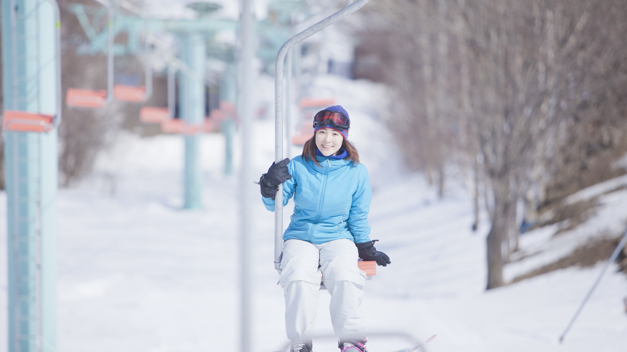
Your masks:
<svg viewBox="0 0 627 352"><path fill-rule="evenodd" d="M361 336L364 317L360 306L366 273L357 267L357 247L349 239L325 244L290 239L283 242L279 282L285 293L285 331L292 341L314 335L320 280L331 294L329 311L335 335Z"/></svg>

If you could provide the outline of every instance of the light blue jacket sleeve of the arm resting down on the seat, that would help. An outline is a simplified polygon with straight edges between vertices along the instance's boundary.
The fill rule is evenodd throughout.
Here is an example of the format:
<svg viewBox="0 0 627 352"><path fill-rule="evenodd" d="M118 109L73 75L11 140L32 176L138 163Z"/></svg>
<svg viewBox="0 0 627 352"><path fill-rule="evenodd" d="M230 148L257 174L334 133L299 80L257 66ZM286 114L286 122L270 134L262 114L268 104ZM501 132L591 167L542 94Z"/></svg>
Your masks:
<svg viewBox="0 0 627 352"><path fill-rule="evenodd" d="M370 189L370 178L368 170L364 165L360 165L359 181L357 190L352 195L352 204L349 211L350 233L355 243L370 241L370 225L368 225L368 213L370 212L370 202L372 200L372 190Z"/></svg>

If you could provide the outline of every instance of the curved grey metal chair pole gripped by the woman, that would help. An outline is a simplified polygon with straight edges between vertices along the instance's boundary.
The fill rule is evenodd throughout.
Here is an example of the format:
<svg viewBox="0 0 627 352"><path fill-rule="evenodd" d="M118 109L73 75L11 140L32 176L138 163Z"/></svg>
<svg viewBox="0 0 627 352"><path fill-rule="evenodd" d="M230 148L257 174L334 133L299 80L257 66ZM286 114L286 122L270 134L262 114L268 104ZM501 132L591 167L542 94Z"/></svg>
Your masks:
<svg viewBox="0 0 627 352"><path fill-rule="evenodd" d="M279 49L275 63L275 162L283 160L283 61L287 52L297 43L318 33L331 24L345 18L349 14L361 9L369 0L357 0L337 13L323 19L319 23L305 29L288 39ZM289 142L288 142L289 143ZM275 269L281 272L281 257L283 256L283 185L278 186L275 197Z"/></svg>

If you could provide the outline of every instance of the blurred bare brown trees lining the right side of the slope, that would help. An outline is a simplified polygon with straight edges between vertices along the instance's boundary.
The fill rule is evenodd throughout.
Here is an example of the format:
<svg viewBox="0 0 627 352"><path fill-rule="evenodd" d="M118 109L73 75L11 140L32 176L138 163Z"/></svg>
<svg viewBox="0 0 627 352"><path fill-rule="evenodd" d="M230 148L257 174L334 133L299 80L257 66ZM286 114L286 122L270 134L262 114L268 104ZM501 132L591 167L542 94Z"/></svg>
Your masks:
<svg viewBox="0 0 627 352"><path fill-rule="evenodd" d="M387 83L408 165L445 187L447 165L485 195L487 288L524 229L624 173L627 3L389 0L359 32L355 75ZM611 25L608 25L611 24ZM524 204L523 207L517 206ZM478 205L477 205L478 206Z"/></svg>

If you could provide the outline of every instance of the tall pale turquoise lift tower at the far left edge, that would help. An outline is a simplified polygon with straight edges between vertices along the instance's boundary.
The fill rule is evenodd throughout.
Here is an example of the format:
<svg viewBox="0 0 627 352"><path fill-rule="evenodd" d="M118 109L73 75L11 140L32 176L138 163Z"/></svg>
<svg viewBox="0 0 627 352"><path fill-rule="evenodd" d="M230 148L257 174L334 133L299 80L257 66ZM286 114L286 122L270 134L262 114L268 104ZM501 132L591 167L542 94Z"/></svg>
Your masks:
<svg viewBox="0 0 627 352"><path fill-rule="evenodd" d="M56 351L58 6L1 0L8 351ZM0 349L4 349L0 347Z"/></svg>

